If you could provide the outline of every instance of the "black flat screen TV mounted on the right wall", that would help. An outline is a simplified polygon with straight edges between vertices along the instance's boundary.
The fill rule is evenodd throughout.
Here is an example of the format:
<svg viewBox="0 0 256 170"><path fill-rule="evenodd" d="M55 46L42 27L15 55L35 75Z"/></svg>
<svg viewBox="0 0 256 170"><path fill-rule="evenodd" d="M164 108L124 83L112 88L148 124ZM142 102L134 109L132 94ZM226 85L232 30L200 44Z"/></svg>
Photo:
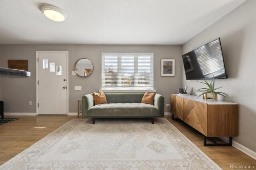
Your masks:
<svg viewBox="0 0 256 170"><path fill-rule="evenodd" d="M227 79L220 38L182 55L187 80Z"/></svg>

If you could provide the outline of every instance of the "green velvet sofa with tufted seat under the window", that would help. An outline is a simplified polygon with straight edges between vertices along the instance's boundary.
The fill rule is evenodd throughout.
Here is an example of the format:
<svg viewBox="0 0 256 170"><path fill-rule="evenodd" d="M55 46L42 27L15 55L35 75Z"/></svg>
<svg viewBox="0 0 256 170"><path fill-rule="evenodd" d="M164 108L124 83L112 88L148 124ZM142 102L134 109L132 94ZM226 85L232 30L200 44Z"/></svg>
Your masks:
<svg viewBox="0 0 256 170"><path fill-rule="evenodd" d="M95 105L92 94L82 97L82 118L164 117L164 96L156 94L154 105L140 103L144 93L104 93L108 103Z"/></svg>

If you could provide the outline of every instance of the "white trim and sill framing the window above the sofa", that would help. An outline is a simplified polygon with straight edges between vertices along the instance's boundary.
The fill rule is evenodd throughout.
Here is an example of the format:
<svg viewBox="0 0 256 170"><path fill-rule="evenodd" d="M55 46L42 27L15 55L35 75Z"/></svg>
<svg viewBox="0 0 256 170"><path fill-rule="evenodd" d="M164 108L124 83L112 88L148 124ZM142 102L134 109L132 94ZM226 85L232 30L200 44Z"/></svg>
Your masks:
<svg viewBox="0 0 256 170"><path fill-rule="evenodd" d="M102 55L153 55L154 56L154 53L101 53L101 56ZM103 62L103 61L102 61ZM154 72L154 57L153 57L153 72ZM103 74L101 74L102 76ZM103 77L101 77L103 79ZM154 88L154 77L153 77L153 88ZM103 91L103 92L109 92L109 93L114 93L114 92L137 92L137 93L142 93L142 92L156 92L155 89L135 89L133 87L131 87L131 89L100 89L100 91Z"/></svg>

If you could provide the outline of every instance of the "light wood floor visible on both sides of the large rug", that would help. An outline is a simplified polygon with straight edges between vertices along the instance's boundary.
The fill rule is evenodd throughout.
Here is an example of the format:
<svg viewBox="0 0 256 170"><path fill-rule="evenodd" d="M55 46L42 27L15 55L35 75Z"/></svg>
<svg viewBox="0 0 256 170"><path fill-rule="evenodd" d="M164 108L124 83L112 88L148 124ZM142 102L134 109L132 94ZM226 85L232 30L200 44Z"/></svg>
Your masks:
<svg viewBox="0 0 256 170"><path fill-rule="evenodd" d="M19 120L0 125L0 165L4 164L32 144L64 125L76 116L6 116ZM165 117L200 150L209 156L220 168L230 169L230 165L254 165L256 160L232 146L203 146L203 136L182 121L172 121ZM149 120L150 122L151 120ZM47 127L47 128L32 128Z"/></svg>

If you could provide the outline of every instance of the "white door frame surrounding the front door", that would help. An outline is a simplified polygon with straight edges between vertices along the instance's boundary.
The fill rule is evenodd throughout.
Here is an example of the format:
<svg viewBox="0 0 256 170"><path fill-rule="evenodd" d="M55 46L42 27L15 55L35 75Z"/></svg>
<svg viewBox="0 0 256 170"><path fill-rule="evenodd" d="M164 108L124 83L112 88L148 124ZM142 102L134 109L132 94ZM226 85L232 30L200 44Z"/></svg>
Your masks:
<svg viewBox="0 0 256 170"><path fill-rule="evenodd" d="M38 75L39 75L39 66L38 66L38 54L39 53L66 53L66 56L67 56L67 78L66 78L66 82L67 82L67 108L66 108L66 115L68 115L68 91L69 91L69 86L68 86L68 51L36 51L36 115L38 115L39 113L39 108L38 108L38 102L39 102L39 85L38 85Z"/></svg>

